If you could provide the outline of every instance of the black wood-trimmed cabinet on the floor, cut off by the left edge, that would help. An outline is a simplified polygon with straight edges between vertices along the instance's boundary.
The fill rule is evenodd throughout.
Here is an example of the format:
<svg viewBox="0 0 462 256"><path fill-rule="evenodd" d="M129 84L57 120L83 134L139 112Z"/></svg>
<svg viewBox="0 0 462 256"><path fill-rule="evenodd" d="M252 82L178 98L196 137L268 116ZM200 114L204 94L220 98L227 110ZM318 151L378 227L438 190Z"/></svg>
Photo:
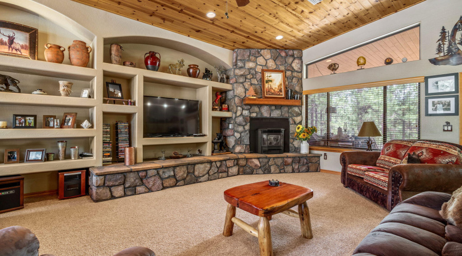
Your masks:
<svg viewBox="0 0 462 256"><path fill-rule="evenodd" d="M0 177L0 214L24 208L24 177Z"/></svg>

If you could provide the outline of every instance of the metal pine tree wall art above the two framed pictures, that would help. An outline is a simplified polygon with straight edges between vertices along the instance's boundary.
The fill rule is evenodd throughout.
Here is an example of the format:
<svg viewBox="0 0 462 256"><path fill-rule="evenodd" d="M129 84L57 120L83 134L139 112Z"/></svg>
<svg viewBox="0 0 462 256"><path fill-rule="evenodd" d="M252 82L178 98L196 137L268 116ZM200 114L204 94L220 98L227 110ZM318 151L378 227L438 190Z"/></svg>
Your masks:
<svg viewBox="0 0 462 256"><path fill-rule="evenodd" d="M439 39L436 41L436 54L438 57L429 59L433 65L462 65L462 51L459 46L462 46L462 34L457 38L457 33L462 31L462 16L460 16L457 23L451 31L442 27L439 32ZM442 55L441 55L442 54Z"/></svg>

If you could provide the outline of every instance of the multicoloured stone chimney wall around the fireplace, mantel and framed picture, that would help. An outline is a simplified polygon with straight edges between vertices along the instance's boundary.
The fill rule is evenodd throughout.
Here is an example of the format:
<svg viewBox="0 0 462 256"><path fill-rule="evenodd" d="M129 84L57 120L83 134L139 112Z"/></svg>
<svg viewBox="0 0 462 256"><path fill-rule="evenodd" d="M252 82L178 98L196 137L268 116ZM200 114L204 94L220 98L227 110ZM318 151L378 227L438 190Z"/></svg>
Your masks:
<svg viewBox="0 0 462 256"><path fill-rule="evenodd" d="M303 61L301 50L237 49L233 53L233 68L227 70L233 90L224 95L232 118L222 122L223 135L230 152L250 153L250 117L288 117L290 132L302 123L301 106L244 105L243 98L253 87L257 98L262 98L261 70L285 70L286 88L302 93ZM301 97L300 97L301 99ZM290 152L300 148L300 141L290 136ZM252 152L255 153L255 152Z"/></svg>

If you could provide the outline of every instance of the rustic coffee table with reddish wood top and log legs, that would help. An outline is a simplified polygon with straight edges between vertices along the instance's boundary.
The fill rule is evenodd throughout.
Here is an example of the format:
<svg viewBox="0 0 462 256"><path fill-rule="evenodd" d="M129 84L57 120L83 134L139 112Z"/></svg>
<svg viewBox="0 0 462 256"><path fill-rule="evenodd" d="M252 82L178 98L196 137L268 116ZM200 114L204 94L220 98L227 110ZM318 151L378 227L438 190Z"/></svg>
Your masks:
<svg viewBox="0 0 462 256"><path fill-rule="evenodd" d="M268 181L237 186L224 191L229 203L223 236L233 235L234 224L258 238L261 256L273 256L269 220L275 214L286 214L300 219L303 238L312 239L310 211L306 201L313 197L313 189L280 182L279 186L268 185ZM298 205L298 212L291 208ZM258 230L236 218L236 207L259 216Z"/></svg>

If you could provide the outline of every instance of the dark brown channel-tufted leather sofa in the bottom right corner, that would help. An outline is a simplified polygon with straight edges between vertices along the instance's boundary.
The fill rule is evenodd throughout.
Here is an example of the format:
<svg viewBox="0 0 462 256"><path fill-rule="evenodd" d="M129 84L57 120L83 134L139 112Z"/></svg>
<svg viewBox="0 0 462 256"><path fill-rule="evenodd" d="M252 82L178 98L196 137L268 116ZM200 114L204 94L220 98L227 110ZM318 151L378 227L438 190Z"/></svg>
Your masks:
<svg viewBox="0 0 462 256"><path fill-rule="evenodd" d="M460 256L462 229L439 215L451 195L424 192L402 201L353 251L354 256Z"/></svg>

